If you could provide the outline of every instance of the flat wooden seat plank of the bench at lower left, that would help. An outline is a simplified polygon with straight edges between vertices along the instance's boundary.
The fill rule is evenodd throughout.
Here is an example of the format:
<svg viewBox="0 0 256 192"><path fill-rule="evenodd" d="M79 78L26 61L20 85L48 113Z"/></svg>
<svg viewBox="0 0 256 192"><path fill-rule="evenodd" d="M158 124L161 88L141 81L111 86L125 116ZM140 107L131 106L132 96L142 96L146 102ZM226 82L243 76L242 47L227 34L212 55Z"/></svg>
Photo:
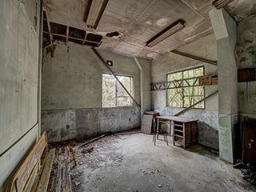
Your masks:
<svg viewBox="0 0 256 192"><path fill-rule="evenodd" d="M38 183L38 192L46 192L47 190L49 179L50 179L51 167L53 166L53 162L54 162L54 154L55 154L55 148L51 149L49 151L49 154L47 155L46 166L42 171L42 176Z"/></svg>

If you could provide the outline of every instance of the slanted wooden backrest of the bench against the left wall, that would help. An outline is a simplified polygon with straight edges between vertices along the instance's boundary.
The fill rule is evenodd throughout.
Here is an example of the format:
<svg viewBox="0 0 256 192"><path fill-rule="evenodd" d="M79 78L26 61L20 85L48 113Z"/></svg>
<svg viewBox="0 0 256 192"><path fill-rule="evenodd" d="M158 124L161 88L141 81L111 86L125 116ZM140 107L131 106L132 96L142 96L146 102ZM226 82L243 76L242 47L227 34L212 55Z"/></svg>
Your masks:
<svg viewBox="0 0 256 192"><path fill-rule="evenodd" d="M14 174L14 178L11 180L11 186L15 183L17 191L23 191L26 182L30 178L32 170L34 170L34 166L36 166L38 159L42 156L46 146L46 132L44 132L38 142L33 146L32 150L30 150L30 153L26 156L22 165L19 166L18 171Z"/></svg>

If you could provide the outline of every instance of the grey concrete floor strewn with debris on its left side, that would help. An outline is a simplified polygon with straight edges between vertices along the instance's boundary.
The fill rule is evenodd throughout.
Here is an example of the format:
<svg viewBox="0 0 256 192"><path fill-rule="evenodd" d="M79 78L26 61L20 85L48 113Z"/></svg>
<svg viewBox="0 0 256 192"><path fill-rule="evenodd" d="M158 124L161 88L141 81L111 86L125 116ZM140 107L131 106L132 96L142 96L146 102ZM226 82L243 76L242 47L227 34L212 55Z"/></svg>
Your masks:
<svg viewBox="0 0 256 192"><path fill-rule="evenodd" d="M74 191L256 191L239 170L201 146L183 150L161 140L154 146L147 134L102 138L79 148L76 158Z"/></svg>

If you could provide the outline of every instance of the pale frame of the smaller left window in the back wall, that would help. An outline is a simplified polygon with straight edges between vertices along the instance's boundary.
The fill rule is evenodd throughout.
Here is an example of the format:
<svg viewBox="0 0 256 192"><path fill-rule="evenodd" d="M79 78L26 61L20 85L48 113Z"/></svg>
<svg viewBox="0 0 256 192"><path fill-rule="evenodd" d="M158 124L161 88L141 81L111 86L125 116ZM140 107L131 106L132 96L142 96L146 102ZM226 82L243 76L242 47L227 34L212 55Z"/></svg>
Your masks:
<svg viewBox="0 0 256 192"><path fill-rule="evenodd" d="M109 74L112 75L114 78L114 75L111 73L102 73L102 87L103 87L103 75L104 74ZM131 87L131 95L134 97L134 92L135 92L135 81L134 81L134 75L130 75L130 74L115 74L117 77L118 76L122 76L122 77L127 77L127 78L131 78L132 81L130 81L130 87ZM116 78L114 78L114 89L115 89L115 106L103 106L103 101L102 102L102 108L117 108L117 107L130 107L130 106L134 106L134 101L132 100L132 98L130 98L130 96L128 95L127 98L130 98L131 100L131 105L130 106L118 106L118 98L125 98L125 97L118 97L118 80ZM120 85L121 86L121 85ZM125 91L126 92L126 91Z"/></svg>

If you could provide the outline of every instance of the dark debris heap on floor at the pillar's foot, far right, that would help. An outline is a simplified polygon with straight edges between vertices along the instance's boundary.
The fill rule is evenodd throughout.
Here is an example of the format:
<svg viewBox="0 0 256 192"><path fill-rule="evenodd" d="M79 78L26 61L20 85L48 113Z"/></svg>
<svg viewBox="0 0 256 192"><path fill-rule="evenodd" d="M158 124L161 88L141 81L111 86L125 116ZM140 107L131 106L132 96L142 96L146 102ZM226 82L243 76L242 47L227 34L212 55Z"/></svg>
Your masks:
<svg viewBox="0 0 256 192"><path fill-rule="evenodd" d="M234 169L241 170L243 179L250 182L250 184L256 186L256 167L250 163L244 163L240 159L235 161Z"/></svg>

